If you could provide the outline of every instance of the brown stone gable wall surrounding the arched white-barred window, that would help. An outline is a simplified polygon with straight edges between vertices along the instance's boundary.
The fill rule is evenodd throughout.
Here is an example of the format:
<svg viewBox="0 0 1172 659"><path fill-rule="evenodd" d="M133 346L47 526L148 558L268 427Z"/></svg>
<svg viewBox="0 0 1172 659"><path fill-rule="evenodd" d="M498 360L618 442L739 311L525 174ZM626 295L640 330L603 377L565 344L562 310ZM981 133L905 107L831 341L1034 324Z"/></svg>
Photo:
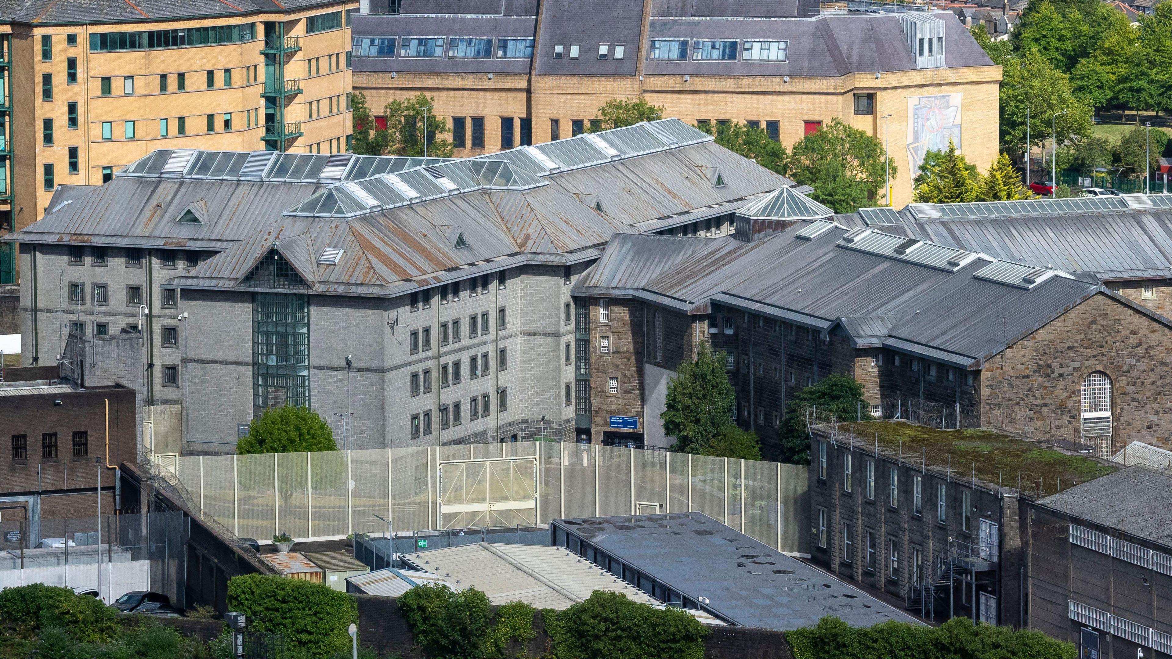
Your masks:
<svg viewBox="0 0 1172 659"><path fill-rule="evenodd" d="M1112 450L1136 440L1172 446L1170 349L1167 326L1096 294L986 364L983 424L1079 441L1082 383L1102 372L1112 383Z"/></svg>

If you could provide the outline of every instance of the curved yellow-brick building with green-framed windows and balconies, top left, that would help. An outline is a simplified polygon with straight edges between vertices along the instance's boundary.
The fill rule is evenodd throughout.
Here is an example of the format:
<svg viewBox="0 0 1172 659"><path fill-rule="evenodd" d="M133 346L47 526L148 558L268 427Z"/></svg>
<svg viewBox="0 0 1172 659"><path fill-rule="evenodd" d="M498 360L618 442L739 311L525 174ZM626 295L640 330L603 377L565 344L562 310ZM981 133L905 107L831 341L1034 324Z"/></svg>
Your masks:
<svg viewBox="0 0 1172 659"><path fill-rule="evenodd" d="M0 0L0 235L157 149L346 151L356 8ZM14 270L0 252L0 284Z"/></svg>

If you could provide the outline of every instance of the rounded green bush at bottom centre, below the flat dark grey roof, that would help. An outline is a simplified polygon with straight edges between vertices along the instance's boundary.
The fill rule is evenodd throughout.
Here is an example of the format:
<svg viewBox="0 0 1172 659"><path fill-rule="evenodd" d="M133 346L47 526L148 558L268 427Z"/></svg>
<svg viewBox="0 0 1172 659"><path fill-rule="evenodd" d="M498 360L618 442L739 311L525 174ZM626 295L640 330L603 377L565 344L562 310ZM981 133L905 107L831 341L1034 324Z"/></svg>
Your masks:
<svg viewBox="0 0 1172 659"><path fill-rule="evenodd" d="M565 611L546 611L556 659L702 659L708 630L680 609L655 609L594 591Z"/></svg>

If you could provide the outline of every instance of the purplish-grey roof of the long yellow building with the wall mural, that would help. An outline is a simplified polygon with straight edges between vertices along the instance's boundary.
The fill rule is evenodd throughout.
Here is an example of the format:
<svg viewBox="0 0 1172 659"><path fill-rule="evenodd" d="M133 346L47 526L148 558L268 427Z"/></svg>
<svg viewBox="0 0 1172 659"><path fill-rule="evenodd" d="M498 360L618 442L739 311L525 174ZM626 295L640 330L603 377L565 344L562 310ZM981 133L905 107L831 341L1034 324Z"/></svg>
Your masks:
<svg viewBox="0 0 1172 659"><path fill-rule="evenodd" d="M804 2L783 0L662 0L643 16L639 2L614 4L607 0L550 0L543 4L541 19L533 14L503 13L500 5L481 14L441 15L401 13L397 15L355 15L355 36L495 36L536 38L532 63L529 59L448 59L356 56L359 72L483 72L529 73L538 75L635 75L640 57L641 32L655 39L737 39L785 40L788 59L778 61L665 61L646 60L647 75L765 75L841 76L851 73L915 70L917 62L898 14L837 12L808 18ZM472 4L450 0L445 9L469 8ZM477 5L478 6L478 5ZM507 6L506 6L507 7ZM928 15L927 13L925 13ZM582 16L595 20L582 20ZM993 67L984 50L950 12L933 12L943 22L948 67ZM537 34L540 26L540 34ZM580 45L580 56L568 57L568 46ZM626 45L624 59L598 57L598 46ZM553 57L553 47L566 50ZM396 54L397 55L397 54Z"/></svg>

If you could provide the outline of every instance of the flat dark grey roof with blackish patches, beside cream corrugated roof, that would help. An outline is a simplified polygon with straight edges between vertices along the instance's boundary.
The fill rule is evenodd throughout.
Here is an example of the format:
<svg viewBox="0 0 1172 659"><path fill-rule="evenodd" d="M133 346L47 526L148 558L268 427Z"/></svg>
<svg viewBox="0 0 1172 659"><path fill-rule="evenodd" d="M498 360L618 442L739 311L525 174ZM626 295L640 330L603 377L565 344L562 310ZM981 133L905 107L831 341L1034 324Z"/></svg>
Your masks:
<svg viewBox="0 0 1172 659"><path fill-rule="evenodd" d="M556 519L614 558L747 627L795 630L836 616L853 627L922 624L702 512Z"/></svg>

